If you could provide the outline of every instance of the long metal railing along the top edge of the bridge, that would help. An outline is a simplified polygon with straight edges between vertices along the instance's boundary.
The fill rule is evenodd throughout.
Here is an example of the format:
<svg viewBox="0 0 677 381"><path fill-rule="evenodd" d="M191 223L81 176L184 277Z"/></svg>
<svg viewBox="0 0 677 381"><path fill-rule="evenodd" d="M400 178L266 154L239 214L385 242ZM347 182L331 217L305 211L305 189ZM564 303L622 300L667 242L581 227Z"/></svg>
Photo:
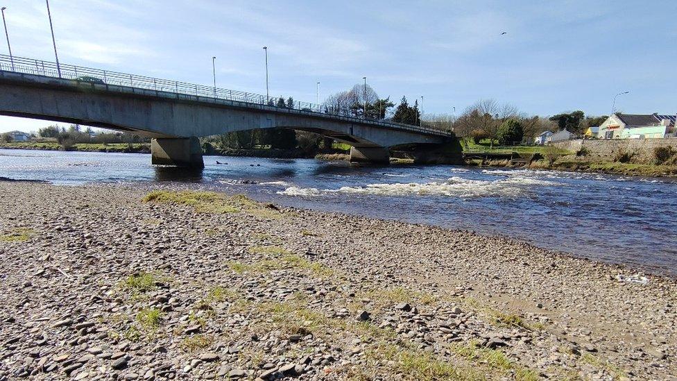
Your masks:
<svg viewBox="0 0 677 381"><path fill-rule="evenodd" d="M252 105L264 105L271 108L299 110L322 115L335 115L352 119L356 122L369 121L370 124L377 124L386 128L397 128L402 130L411 130L418 133L426 133L438 136L452 136L452 133L434 128L425 128L402 124L386 119L364 118L357 115L356 110L352 108L339 108L334 105L324 103L309 103L302 101L293 101L293 105L277 106L277 97L265 96L262 94L253 94L250 92L241 92L238 90L221 89L219 87L197 85L182 81L171 81L148 76L138 76L136 74L125 74L117 71L102 69L92 69L76 65L37 60L33 58L24 58L16 56L7 56L0 54L0 71L11 71L22 74L33 74L37 76L46 76L52 78L70 79L85 83L98 85L116 85L120 87L129 87L132 89L153 90L156 92L169 92L172 94L183 94L190 96L200 96L209 99L220 99L225 101L234 101L250 103Z"/></svg>

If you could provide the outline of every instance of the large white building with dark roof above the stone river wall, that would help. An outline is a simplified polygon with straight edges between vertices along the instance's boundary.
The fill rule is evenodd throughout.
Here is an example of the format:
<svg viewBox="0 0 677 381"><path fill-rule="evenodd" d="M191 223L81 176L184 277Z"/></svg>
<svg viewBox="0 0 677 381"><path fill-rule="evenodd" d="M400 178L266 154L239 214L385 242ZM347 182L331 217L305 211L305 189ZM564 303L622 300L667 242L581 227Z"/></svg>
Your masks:
<svg viewBox="0 0 677 381"><path fill-rule="evenodd" d="M600 139L655 139L675 136L677 115L622 114L608 117L597 132Z"/></svg>

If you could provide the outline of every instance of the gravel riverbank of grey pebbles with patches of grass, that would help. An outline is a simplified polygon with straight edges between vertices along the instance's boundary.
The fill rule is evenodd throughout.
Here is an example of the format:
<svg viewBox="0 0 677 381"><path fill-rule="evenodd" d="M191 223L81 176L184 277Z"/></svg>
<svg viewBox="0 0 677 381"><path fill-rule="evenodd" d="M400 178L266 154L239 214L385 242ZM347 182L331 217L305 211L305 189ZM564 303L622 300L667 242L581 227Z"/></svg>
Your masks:
<svg viewBox="0 0 677 381"><path fill-rule="evenodd" d="M145 187L0 182L0 380L677 380L674 279Z"/></svg>

